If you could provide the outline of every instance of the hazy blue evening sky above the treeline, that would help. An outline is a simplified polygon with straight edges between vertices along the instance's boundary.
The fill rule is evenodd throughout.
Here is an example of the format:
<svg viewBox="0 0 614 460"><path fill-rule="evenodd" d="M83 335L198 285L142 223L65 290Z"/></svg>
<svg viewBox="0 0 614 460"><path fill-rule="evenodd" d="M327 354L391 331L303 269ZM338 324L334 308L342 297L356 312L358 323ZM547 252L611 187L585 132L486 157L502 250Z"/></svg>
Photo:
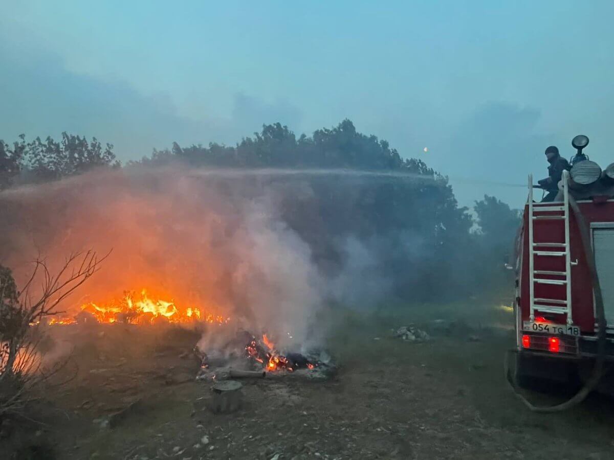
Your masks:
<svg viewBox="0 0 614 460"><path fill-rule="evenodd" d="M343 118L520 205L543 150L614 161L611 1L0 0L0 139L98 136L123 159ZM422 149L429 147L429 153Z"/></svg>

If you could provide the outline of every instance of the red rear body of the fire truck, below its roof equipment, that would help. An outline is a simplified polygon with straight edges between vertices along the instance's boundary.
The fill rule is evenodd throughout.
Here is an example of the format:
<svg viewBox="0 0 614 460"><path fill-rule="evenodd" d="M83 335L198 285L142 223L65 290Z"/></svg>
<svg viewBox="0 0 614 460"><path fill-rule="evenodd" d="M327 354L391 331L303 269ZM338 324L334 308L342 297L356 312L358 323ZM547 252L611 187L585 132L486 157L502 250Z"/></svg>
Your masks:
<svg viewBox="0 0 614 460"><path fill-rule="evenodd" d="M567 380L597 352L593 278L580 223L569 204L567 172L560 201L529 200L516 241L516 377ZM614 360L614 199L576 200L589 226L607 323L606 359ZM581 374L581 373L580 373Z"/></svg>

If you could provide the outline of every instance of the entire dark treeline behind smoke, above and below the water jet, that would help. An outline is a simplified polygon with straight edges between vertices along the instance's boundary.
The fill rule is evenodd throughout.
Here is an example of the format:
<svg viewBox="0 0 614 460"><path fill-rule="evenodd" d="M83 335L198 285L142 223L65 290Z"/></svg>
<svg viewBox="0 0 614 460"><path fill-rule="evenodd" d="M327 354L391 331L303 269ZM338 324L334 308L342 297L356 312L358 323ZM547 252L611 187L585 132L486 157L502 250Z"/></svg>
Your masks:
<svg viewBox="0 0 614 460"><path fill-rule="evenodd" d="M0 141L0 188L53 180L96 167L120 167L113 147L63 133L9 145ZM446 177L419 159L403 159L385 140L356 131L349 120L300 137L279 123L265 125L234 147L209 144L153 150L130 167L181 163L189 167L302 168L394 171L394 176L271 175L280 218L305 240L316 263L333 276L354 268L357 280L403 299L428 301L507 289L503 264L518 212L494 197L476 202L476 222L459 207ZM475 231L475 223L479 229ZM360 250L352 247L359 242ZM368 258L361 260L363 251ZM357 259L359 258L359 259ZM377 281L376 281L377 278Z"/></svg>

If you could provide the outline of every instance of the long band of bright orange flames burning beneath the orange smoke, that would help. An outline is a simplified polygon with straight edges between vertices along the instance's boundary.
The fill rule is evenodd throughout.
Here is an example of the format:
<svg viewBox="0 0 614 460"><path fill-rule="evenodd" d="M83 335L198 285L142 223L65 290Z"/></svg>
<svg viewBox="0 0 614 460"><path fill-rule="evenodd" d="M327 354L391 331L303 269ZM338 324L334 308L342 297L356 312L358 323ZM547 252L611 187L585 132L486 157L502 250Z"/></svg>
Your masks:
<svg viewBox="0 0 614 460"><path fill-rule="evenodd" d="M230 318L214 312L206 312L198 307L190 306L182 309L174 300L151 298L146 289L141 289L140 296L126 291L122 298L106 303L88 302L81 305L81 312L87 313L98 323L131 323L147 324L165 320L169 323L188 323L204 321L211 324L225 324ZM55 316L49 324L72 324L77 322L77 316Z"/></svg>

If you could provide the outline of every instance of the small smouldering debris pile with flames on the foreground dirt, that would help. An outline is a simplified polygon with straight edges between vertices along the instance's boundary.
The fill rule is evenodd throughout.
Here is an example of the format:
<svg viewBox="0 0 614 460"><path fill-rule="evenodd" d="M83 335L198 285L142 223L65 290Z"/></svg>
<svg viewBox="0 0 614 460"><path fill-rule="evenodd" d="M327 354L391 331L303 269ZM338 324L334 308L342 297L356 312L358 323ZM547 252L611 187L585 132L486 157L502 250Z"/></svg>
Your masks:
<svg viewBox="0 0 614 460"><path fill-rule="evenodd" d="M336 370L330 355L324 350L305 353L279 351L266 334L262 339L247 331L239 331L224 347L226 352L195 349L200 359L196 380L225 380L227 378L265 377L266 375L295 374L325 379Z"/></svg>

